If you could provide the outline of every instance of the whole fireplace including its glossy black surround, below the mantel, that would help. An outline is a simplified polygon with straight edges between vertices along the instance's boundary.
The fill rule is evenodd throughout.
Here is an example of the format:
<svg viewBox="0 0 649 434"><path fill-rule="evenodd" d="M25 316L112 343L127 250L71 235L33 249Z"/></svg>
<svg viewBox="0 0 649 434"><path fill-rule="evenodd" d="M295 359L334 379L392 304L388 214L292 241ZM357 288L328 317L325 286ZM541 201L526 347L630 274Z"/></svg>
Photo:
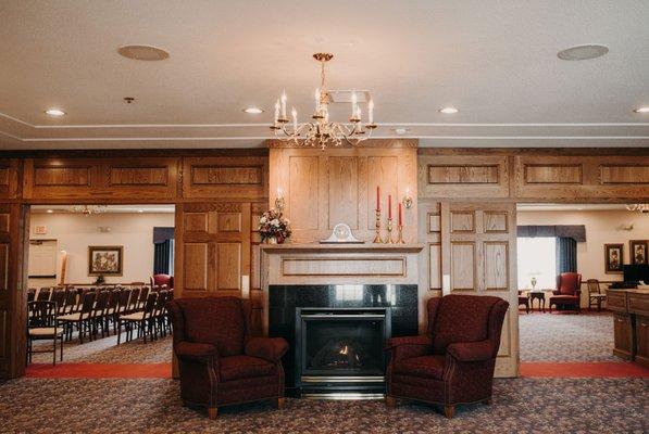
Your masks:
<svg viewBox="0 0 649 434"><path fill-rule="evenodd" d="M414 284L269 286L269 335L289 343L288 396L383 394L386 340L413 334Z"/></svg>

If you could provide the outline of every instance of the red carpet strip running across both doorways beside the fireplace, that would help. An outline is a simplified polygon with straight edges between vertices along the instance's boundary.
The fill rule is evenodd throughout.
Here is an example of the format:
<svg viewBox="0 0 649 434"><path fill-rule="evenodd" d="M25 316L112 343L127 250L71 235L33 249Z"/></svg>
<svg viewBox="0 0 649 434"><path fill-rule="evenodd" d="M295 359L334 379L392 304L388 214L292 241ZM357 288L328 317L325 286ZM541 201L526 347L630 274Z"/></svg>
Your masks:
<svg viewBox="0 0 649 434"><path fill-rule="evenodd" d="M171 363L34 363L26 376L39 379L170 379ZM628 362L523 362L523 378L649 378L649 369Z"/></svg>

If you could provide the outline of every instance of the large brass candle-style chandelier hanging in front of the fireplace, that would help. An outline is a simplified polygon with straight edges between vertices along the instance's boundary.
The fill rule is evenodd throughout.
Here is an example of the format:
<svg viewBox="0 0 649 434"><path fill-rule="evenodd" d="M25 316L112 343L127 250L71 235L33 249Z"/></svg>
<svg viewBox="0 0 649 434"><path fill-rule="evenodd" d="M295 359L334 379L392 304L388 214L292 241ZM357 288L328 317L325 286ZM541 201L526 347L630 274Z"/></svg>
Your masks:
<svg viewBox="0 0 649 434"><path fill-rule="evenodd" d="M286 115L286 92L275 103L275 119L271 129L279 140L294 142L297 145L319 146L323 150L333 144L339 146L345 141L350 145L357 145L372 136L372 130L377 126L374 124L374 102L367 102L367 123L363 124L362 111L358 102L357 93L351 93L351 116L349 124L340 124L329 120L329 103L332 98L326 87L325 65L334 58L330 53L315 53L313 58L321 65L321 84L315 89L315 111L311 122L298 124L298 112L291 110L292 126Z"/></svg>

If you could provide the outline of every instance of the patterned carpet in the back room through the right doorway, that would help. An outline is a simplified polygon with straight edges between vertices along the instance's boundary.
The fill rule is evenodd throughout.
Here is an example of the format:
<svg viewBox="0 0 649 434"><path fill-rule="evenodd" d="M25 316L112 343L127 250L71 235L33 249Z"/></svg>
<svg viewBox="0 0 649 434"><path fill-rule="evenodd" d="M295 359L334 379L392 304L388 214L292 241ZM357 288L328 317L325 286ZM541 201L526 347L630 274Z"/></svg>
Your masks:
<svg viewBox="0 0 649 434"><path fill-rule="evenodd" d="M611 312L519 315L522 361L620 361Z"/></svg>

